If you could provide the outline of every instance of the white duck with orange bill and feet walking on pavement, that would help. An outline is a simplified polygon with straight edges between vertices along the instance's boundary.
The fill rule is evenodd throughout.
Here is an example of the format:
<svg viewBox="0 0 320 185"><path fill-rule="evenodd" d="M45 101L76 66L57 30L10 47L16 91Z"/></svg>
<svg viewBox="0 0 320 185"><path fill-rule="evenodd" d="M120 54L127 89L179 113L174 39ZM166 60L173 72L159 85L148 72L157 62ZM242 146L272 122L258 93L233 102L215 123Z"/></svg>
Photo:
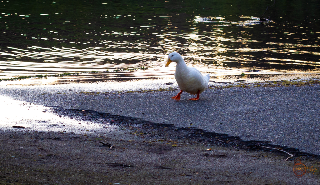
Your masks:
<svg viewBox="0 0 320 185"><path fill-rule="evenodd" d="M172 61L177 63L174 77L181 89L177 96L173 96L172 99L180 100L181 93L185 91L190 94L197 94L196 98L190 98L189 100L199 100L200 93L208 88L210 75L203 76L198 69L188 67L182 56L177 52L169 54L165 67L169 66Z"/></svg>

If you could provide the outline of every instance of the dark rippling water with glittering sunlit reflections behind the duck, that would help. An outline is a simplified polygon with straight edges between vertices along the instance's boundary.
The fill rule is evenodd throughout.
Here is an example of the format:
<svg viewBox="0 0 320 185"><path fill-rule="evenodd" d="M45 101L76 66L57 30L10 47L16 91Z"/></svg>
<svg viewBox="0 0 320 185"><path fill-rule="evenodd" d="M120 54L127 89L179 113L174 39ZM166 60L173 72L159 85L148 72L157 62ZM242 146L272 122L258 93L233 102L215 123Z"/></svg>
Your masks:
<svg viewBox="0 0 320 185"><path fill-rule="evenodd" d="M211 76L319 74L319 1L276 1L260 24L273 3L1 1L0 78L92 70L109 72L76 80L173 77L175 65L164 65L174 51Z"/></svg>

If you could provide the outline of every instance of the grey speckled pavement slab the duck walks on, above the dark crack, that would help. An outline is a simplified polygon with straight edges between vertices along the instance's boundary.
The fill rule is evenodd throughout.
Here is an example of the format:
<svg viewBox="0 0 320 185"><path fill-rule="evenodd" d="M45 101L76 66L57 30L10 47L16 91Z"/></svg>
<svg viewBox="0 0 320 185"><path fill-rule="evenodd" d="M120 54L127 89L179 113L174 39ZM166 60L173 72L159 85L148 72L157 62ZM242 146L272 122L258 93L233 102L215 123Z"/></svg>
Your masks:
<svg viewBox="0 0 320 185"><path fill-rule="evenodd" d="M181 101L173 101L170 97L178 91L98 94L82 91L69 91L59 85L0 88L1 94L13 99L44 106L191 126L320 155L319 85L208 89L199 101L188 101L193 96L187 93L182 93Z"/></svg>

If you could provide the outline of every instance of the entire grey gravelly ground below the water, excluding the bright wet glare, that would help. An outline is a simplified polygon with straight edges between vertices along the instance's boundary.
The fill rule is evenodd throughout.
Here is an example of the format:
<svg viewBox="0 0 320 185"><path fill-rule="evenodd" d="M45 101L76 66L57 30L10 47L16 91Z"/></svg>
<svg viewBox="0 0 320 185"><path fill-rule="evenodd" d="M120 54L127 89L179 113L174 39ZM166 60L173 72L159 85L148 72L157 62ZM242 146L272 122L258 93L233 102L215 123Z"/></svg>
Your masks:
<svg viewBox="0 0 320 185"><path fill-rule="evenodd" d="M317 184L319 170L297 178L293 166L300 157L319 169L319 88L210 89L177 102L177 91L2 86L2 95L103 127L0 128L0 184Z"/></svg>

